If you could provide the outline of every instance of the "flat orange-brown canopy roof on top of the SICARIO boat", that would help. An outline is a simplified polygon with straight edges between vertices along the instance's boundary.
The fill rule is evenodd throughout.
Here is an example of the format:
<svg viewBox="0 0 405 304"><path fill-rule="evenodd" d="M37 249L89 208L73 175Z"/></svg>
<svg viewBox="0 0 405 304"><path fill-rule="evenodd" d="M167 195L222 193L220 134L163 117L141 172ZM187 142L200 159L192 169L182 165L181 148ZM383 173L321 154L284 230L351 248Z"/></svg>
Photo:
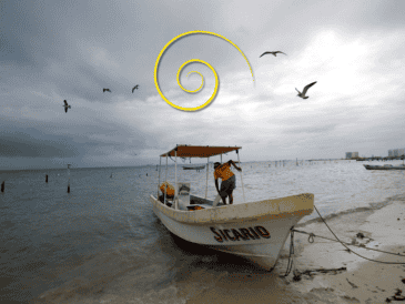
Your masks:
<svg viewBox="0 0 405 304"><path fill-rule="evenodd" d="M170 150L169 152L160 155L161 158L165 156L175 156L174 152L176 151L176 156L179 158L211 158L214 155L227 153L231 151L237 151L242 149L242 146L212 146L212 145L188 145L188 144L179 144L176 148Z"/></svg>

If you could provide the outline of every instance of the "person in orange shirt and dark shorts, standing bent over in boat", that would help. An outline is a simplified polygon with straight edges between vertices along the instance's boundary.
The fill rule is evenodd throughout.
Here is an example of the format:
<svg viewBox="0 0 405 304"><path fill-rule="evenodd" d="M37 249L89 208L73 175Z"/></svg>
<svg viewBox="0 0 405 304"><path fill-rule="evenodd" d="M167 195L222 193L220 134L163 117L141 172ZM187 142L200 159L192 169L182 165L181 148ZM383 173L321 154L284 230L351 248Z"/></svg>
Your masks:
<svg viewBox="0 0 405 304"><path fill-rule="evenodd" d="M242 171L242 168L236 166L236 164L230 160L229 162L221 164L220 162L214 163L214 179L215 188L220 194L222 202L226 205L226 196L229 196L230 204L233 204L232 192L236 188L236 176L231 171L231 164L237 170ZM217 185L217 179L221 179L221 190Z"/></svg>

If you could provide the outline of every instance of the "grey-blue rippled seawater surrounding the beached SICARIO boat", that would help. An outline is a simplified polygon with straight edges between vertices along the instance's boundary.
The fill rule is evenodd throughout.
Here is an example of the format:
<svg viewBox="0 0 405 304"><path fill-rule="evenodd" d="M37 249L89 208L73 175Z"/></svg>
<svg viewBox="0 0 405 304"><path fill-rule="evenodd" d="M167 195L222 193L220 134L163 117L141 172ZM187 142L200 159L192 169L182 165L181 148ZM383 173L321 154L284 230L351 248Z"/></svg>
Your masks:
<svg viewBox="0 0 405 304"><path fill-rule="evenodd" d="M298 163L242 163L234 203L313 193L328 219L405 196L405 171L367 171L355 161ZM65 169L0 172L0 303L186 303L226 273L259 273L244 259L164 227L149 201L158 192L155 169L70 169L70 193ZM174 170L168 170L172 183ZM215 197L212 166L207 179L206 170L180 168L178 176L200 196L207 184L207 197Z"/></svg>

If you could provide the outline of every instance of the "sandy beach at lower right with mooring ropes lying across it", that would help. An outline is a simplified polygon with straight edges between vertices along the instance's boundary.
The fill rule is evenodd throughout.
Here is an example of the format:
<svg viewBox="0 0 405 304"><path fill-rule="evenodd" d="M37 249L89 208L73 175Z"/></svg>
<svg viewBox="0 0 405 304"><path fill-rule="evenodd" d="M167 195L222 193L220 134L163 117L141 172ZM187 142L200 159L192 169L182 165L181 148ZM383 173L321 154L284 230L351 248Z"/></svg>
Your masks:
<svg viewBox="0 0 405 304"><path fill-rule="evenodd" d="M376 211L336 216L326 222L342 242L363 243L371 249L405 255L404 201L394 201ZM322 222L296 229L334 239ZM358 232L365 237L356 237ZM320 237L310 244L308 235L301 233L294 233L294 264L298 272L341 267L346 267L346 271L303 274L298 282L293 280L293 273L283 278L280 275L285 273L288 256L288 252L284 251L271 274L225 275L214 287L189 298L186 303L386 303L387 297L395 295L396 288L405 295L405 284L402 283L402 278L405 278L405 264L371 262L348 253L340 243ZM372 260L405 263L405 256L350 247ZM392 300L392 303L395 302Z"/></svg>

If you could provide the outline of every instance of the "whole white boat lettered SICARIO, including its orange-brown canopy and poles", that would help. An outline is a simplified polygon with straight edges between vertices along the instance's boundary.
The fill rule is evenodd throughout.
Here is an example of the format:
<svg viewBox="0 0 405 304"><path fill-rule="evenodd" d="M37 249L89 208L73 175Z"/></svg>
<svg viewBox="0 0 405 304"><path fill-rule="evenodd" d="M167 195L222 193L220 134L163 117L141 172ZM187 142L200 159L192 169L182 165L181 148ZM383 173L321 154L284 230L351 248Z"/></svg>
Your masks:
<svg viewBox="0 0 405 304"><path fill-rule="evenodd" d="M176 145L160 155L175 158L212 158L236 151L241 146L195 146ZM162 159L161 159L162 160ZM206 166L206 186L210 166ZM213 173L213 171L211 171ZM212 174L211 174L212 175ZM213 176L210 175L210 180ZM159 171L160 176L160 171ZM243 190L243 179L241 172ZM158 195L159 197L158 182ZM163 202L151 195L153 211L170 232L191 243L206 245L230 254L243 256L259 266L271 271L274 268L290 231L305 215L313 212L314 194L303 193L281 199L223 205L220 195L215 200L191 194L192 184L178 182L175 174L175 194L172 201ZM221 203L219 203L221 201ZM247 197L249 201L249 197Z"/></svg>

